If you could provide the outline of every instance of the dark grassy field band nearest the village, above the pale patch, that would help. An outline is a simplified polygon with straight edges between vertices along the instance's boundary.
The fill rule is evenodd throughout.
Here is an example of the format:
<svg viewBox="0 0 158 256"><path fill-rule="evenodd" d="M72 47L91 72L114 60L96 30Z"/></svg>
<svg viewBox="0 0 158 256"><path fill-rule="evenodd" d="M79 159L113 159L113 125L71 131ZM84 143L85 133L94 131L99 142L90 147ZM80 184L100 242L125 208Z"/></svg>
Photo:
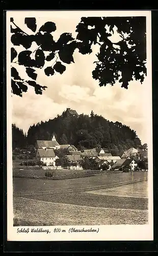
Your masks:
<svg viewBox="0 0 158 256"><path fill-rule="evenodd" d="M67 179L67 180L49 180L49 179L29 179L29 178L14 178L13 189L14 193L20 191L57 191L77 188L95 187L108 184L116 184L119 182L133 181L135 179L147 178L147 172L134 172L132 176L130 173L111 173L100 174L92 177Z"/></svg>

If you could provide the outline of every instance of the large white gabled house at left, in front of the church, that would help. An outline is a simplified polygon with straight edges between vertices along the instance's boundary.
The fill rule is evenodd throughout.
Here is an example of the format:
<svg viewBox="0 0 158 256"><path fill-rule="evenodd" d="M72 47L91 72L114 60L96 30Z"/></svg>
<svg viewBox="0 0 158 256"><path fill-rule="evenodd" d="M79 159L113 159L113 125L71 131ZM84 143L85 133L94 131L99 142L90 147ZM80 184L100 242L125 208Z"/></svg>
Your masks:
<svg viewBox="0 0 158 256"><path fill-rule="evenodd" d="M45 166L56 166L56 159L58 156L55 156L53 148L38 148L36 158L45 164Z"/></svg>

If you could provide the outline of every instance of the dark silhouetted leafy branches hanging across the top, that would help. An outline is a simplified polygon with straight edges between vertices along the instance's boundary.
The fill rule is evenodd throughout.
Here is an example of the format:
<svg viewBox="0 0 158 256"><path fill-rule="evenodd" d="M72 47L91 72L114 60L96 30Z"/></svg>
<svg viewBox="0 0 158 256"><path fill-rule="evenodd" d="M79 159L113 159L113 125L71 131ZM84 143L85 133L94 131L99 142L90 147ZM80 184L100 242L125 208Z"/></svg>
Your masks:
<svg viewBox="0 0 158 256"><path fill-rule="evenodd" d="M121 87L128 88L129 81L136 79L142 83L146 75L146 17L82 17L76 26L77 36L63 33L57 41L52 33L57 30L54 22L46 22L37 30L36 18L25 17L25 24L30 33L22 31L11 18L11 62L25 67L31 79L24 80L12 65L11 85L13 94L22 97L28 86L42 94L46 86L36 82L39 69L46 76L63 74L65 65L74 62L73 53L77 49L81 54L91 54L94 45L99 46L96 55L96 67L92 77L99 86L112 86L116 81ZM111 36L119 34L118 42ZM32 49L36 43L37 49ZM24 49L17 53L16 46Z"/></svg>

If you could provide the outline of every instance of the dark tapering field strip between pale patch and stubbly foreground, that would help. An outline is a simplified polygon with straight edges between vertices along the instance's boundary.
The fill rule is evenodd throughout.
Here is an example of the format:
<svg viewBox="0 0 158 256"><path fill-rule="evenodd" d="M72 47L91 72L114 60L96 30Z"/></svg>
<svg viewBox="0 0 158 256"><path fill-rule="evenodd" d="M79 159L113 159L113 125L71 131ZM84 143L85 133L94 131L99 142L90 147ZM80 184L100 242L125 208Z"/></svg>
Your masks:
<svg viewBox="0 0 158 256"><path fill-rule="evenodd" d="M25 198L53 203L64 203L81 206L104 207L104 208L123 208L147 210L148 199L129 198L109 195L96 195L90 193L57 193L53 195L25 196Z"/></svg>

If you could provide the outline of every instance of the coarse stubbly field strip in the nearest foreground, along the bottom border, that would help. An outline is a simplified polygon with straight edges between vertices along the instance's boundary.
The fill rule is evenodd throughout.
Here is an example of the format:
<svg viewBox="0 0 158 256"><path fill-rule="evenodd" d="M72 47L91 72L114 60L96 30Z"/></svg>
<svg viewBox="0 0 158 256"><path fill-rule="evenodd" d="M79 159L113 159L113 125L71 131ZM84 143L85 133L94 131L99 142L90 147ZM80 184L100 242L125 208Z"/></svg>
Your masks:
<svg viewBox="0 0 158 256"><path fill-rule="evenodd" d="M147 210L76 206L14 198L14 225L146 224Z"/></svg>

